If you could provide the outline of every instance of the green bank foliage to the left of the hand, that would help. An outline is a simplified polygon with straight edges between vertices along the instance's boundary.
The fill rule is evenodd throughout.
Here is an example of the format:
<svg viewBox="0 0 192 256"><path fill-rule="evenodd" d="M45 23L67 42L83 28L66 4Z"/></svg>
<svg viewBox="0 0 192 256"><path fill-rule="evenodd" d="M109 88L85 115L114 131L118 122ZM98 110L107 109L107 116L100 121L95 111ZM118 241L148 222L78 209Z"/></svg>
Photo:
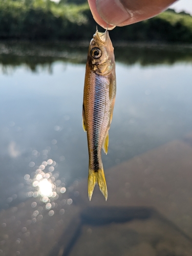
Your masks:
<svg viewBox="0 0 192 256"><path fill-rule="evenodd" d="M88 4L0 0L0 38L76 39L80 25L88 24L89 15L84 14L87 10Z"/></svg>

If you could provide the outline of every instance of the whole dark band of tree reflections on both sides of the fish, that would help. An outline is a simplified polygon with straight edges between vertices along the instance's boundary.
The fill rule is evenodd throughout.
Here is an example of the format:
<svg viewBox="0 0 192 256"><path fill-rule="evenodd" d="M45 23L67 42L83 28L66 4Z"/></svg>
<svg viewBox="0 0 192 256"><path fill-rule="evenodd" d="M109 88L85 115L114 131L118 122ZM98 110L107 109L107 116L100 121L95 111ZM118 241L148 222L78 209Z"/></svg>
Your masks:
<svg viewBox="0 0 192 256"><path fill-rule="evenodd" d="M3 73L10 73L16 67L25 65L32 72L48 70L52 73L55 61L86 63L89 42L82 45L69 45L63 42L0 44L0 63ZM126 65L139 63L147 65L173 65L175 62L192 62L192 49L187 46L162 46L131 44L115 46L116 61Z"/></svg>

